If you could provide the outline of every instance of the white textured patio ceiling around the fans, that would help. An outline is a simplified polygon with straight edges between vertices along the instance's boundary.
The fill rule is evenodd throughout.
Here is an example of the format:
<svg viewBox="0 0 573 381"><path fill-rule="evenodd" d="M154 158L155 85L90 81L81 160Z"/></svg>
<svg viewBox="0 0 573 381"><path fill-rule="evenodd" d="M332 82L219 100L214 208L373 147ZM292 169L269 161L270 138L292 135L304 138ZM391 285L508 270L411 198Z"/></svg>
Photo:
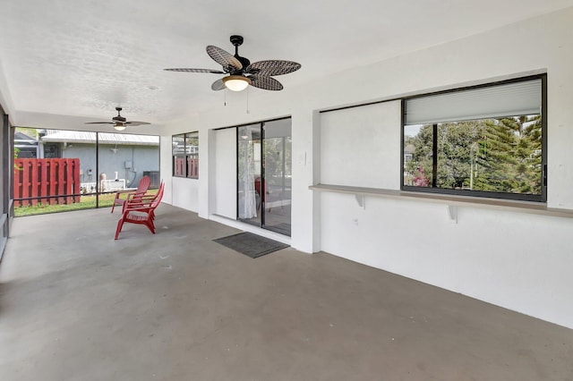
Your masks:
<svg viewBox="0 0 573 381"><path fill-rule="evenodd" d="M221 75L162 69L219 70L205 47L234 53L232 34L244 36L239 53L252 62L302 64L277 77L288 91L569 6L573 0L7 1L0 92L13 113L38 120L109 120L123 106L128 120L161 124L223 102L224 91L210 89Z"/></svg>

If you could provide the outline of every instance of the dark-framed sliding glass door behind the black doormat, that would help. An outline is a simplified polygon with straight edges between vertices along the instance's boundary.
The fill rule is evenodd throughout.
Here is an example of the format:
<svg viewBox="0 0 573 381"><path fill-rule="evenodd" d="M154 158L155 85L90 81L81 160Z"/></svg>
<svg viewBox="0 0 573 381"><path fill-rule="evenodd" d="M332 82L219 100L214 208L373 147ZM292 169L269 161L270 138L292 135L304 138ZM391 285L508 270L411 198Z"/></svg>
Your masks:
<svg viewBox="0 0 573 381"><path fill-rule="evenodd" d="M290 235L291 152L290 118L238 127L238 219Z"/></svg>

